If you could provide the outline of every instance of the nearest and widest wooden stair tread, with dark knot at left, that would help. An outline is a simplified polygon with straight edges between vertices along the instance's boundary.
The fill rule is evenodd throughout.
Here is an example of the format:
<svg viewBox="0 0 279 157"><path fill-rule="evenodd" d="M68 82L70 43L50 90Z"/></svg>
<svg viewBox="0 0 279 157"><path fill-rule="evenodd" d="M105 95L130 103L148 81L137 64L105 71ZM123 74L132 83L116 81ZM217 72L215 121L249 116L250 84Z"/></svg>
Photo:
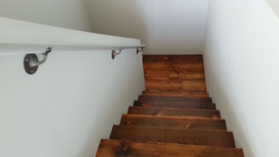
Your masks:
<svg viewBox="0 0 279 157"><path fill-rule="evenodd" d="M240 148L101 139L96 156L244 157L244 154Z"/></svg>

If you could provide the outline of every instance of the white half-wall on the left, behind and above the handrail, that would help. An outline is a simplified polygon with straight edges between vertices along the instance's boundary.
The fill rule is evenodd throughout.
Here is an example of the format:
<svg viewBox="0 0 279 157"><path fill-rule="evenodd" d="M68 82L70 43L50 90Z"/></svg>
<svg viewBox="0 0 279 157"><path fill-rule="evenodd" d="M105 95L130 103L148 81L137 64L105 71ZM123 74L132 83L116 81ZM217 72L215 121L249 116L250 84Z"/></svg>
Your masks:
<svg viewBox="0 0 279 157"><path fill-rule="evenodd" d="M0 18L4 21L1 40L140 44ZM24 35L34 32L44 38ZM25 72L23 58L0 55L0 156L95 156L100 139L109 138L113 124L119 124L144 90L142 57L135 49L125 49L113 60L111 50L54 48L33 75Z"/></svg>

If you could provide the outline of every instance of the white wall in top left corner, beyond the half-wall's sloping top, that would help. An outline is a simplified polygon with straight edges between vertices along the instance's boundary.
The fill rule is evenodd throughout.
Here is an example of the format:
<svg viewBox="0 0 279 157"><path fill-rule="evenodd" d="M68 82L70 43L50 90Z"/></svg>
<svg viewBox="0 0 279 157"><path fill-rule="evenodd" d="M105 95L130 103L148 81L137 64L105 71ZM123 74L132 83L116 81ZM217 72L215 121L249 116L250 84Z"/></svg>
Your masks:
<svg viewBox="0 0 279 157"><path fill-rule="evenodd" d="M82 0L1 0L0 17L92 32Z"/></svg>

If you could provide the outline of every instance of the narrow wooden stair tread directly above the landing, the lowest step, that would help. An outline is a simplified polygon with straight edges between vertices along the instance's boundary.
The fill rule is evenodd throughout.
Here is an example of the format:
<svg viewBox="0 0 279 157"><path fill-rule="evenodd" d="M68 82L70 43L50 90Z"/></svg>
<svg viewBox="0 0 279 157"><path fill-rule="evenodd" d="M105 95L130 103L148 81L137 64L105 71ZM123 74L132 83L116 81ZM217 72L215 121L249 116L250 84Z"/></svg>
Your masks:
<svg viewBox="0 0 279 157"><path fill-rule="evenodd" d="M209 98L209 94L206 92L200 91L143 91L143 96L165 96L165 97L202 97Z"/></svg>

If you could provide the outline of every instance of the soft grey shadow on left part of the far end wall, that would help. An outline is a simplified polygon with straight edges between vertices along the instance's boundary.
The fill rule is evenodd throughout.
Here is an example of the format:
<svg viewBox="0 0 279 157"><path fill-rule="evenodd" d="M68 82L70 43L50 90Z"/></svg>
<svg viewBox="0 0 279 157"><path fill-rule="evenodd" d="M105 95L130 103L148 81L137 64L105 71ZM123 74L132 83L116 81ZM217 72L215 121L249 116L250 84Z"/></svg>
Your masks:
<svg viewBox="0 0 279 157"><path fill-rule="evenodd" d="M150 32L138 2L85 0L85 3L94 33L135 38L146 43Z"/></svg>

